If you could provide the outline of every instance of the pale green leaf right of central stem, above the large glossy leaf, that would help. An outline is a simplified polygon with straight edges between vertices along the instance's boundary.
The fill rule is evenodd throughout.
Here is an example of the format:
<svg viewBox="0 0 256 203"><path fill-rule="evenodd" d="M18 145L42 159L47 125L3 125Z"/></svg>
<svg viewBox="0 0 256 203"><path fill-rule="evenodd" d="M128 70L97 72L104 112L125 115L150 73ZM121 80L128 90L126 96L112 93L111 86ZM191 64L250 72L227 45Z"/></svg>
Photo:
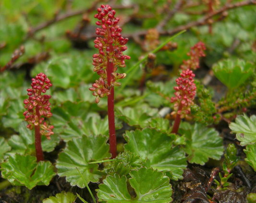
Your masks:
<svg viewBox="0 0 256 203"><path fill-rule="evenodd" d="M135 107L117 107L116 116L127 122L130 126L140 126L145 128L149 126L152 116L156 116L158 109L150 108L148 105L137 105Z"/></svg>

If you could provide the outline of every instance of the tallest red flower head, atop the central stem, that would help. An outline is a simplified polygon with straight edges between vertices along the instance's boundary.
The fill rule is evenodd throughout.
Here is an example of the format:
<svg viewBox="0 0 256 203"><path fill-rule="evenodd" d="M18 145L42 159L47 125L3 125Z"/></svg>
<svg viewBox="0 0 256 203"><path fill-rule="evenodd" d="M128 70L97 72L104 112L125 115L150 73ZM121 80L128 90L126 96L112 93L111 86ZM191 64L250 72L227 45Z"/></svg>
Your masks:
<svg viewBox="0 0 256 203"><path fill-rule="evenodd" d="M110 95L110 90L114 86L121 84L116 82L126 76L125 73L116 73L118 67L125 67L126 59L131 57L123 55L123 51L127 49L125 46L128 38L123 38L121 35L122 28L118 26L119 18L115 18L115 10L109 5L101 5L98 8L98 13L94 15L99 21L96 22L101 28L96 28L96 34L102 37L96 37L94 40L95 48L98 48L98 54L93 55L94 71L100 76L99 80L89 88L96 96L96 103L99 98ZM108 83L107 66L111 64L111 81Z"/></svg>

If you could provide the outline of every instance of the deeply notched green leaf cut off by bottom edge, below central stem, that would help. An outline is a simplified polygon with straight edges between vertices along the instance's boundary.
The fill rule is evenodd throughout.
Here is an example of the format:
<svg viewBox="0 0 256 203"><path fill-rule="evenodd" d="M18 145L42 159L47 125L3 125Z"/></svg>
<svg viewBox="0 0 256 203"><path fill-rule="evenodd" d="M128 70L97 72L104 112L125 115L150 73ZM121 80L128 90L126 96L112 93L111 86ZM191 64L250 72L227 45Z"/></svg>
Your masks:
<svg viewBox="0 0 256 203"><path fill-rule="evenodd" d="M153 168L142 167L130 171L131 186L136 197L131 197L127 190L126 177L115 173L103 180L99 185L98 198L102 203L169 203L172 201L170 179ZM149 178L150 177L150 178Z"/></svg>

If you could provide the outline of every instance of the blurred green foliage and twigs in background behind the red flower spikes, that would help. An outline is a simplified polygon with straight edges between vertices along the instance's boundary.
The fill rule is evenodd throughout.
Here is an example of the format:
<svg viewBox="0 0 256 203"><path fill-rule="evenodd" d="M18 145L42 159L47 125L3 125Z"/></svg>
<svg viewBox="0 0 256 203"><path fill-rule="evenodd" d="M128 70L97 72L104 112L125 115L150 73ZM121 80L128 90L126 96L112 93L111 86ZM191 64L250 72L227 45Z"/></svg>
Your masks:
<svg viewBox="0 0 256 203"><path fill-rule="evenodd" d="M127 77L122 81L129 80L126 88L116 94L117 106L137 105L133 99L138 98L138 103L161 107L168 106L169 101L153 93L150 83L144 91L146 81L152 80L167 94L173 92L169 87L173 87L175 81L171 78L177 75L182 61L188 59L186 53L198 41L204 42L207 48L206 57L201 61L202 70L197 71L198 78L203 78L219 60L239 58L256 62L256 6L223 10L226 5L243 2L255 3L212 0L212 10L209 10L209 0L1 0L0 67L11 60L15 49L24 46L25 52L9 70L0 73L0 126L5 127L4 131L10 127L18 130L24 119L26 89L30 79L39 72L47 74L53 84L48 91L53 108L66 101L87 102L90 106L87 111L97 111L105 117L106 99L96 105L88 91L90 84L98 79L92 65L92 55L97 51L93 43L97 27L93 16L100 4L110 4L116 10L122 36L129 37L125 54L131 56L131 60L126 61L125 68L119 68L120 73L129 70L141 56L154 50L177 33L175 31L187 29L172 40L176 47L158 51L151 70L146 72L147 64L141 64L132 79ZM222 12L204 21L207 15L221 9ZM150 30L153 39L147 38ZM165 82L168 85L162 84Z"/></svg>

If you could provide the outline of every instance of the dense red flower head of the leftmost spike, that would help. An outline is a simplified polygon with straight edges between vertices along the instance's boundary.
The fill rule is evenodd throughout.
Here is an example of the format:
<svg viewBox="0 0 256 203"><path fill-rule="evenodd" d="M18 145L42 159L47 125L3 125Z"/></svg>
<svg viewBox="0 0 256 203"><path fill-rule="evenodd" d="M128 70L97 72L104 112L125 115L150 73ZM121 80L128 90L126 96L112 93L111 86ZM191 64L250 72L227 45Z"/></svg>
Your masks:
<svg viewBox="0 0 256 203"><path fill-rule="evenodd" d="M50 95L41 95L46 93L47 90L52 86L49 78L44 73L37 74L36 78L32 78L31 87L27 89L28 99L24 100L24 107L27 110L24 112L25 121L28 121L27 128L32 130L34 126L40 126L41 135L45 135L50 140L50 135L54 134L51 129L53 126L48 125L44 122L44 117L50 118L52 113L50 112ZM41 118L42 117L42 118Z"/></svg>

